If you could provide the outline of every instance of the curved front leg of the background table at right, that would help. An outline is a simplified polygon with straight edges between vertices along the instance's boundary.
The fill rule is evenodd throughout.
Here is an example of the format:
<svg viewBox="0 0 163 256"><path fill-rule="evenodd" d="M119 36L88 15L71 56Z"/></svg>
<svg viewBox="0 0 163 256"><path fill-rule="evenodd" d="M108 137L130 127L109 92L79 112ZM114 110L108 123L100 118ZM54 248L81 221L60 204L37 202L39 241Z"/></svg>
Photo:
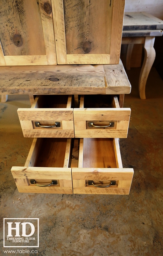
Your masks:
<svg viewBox="0 0 163 256"><path fill-rule="evenodd" d="M145 57L143 61L143 66L141 68L140 77L139 77L139 96L140 99L145 100L145 85L148 78L149 72L152 68L152 64L155 60L156 52L153 48L155 36L146 36L144 51Z"/></svg>

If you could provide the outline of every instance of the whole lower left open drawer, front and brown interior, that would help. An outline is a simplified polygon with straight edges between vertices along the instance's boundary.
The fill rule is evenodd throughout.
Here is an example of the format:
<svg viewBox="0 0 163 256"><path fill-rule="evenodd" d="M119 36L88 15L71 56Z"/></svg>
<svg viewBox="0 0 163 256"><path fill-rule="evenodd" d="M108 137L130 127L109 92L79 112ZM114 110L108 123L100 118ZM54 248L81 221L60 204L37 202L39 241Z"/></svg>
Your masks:
<svg viewBox="0 0 163 256"><path fill-rule="evenodd" d="M24 167L11 169L19 192L73 194L71 139L34 139Z"/></svg>

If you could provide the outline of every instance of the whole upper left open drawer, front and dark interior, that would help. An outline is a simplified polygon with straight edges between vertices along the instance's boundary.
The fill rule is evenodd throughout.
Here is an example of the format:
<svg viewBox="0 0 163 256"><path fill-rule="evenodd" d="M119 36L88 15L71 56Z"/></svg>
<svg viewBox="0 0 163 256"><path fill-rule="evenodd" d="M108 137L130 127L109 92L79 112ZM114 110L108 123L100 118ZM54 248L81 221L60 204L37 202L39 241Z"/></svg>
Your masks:
<svg viewBox="0 0 163 256"><path fill-rule="evenodd" d="M72 95L36 96L31 108L18 108L24 137L73 138Z"/></svg>

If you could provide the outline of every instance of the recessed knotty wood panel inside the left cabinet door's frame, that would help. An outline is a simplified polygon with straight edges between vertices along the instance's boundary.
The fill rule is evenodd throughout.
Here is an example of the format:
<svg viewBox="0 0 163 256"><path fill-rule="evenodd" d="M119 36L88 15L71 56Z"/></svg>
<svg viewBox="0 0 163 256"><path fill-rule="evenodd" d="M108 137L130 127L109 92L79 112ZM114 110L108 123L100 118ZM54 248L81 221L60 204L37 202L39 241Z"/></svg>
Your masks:
<svg viewBox="0 0 163 256"><path fill-rule="evenodd" d="M37 1L3 1L0 26L5 56L46 54Z"/></svg>

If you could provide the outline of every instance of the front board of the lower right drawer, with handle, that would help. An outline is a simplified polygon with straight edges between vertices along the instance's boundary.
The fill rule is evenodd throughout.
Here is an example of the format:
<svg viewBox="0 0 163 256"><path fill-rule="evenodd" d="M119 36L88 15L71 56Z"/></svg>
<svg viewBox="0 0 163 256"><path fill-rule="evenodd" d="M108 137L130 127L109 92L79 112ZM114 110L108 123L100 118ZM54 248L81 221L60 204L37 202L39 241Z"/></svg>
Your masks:
<svg viewBox="0 0 163 256"><path fill-rule="evenodd" d="M74 194L128 195L132 177L132 168L72 168Z"/></svg>

